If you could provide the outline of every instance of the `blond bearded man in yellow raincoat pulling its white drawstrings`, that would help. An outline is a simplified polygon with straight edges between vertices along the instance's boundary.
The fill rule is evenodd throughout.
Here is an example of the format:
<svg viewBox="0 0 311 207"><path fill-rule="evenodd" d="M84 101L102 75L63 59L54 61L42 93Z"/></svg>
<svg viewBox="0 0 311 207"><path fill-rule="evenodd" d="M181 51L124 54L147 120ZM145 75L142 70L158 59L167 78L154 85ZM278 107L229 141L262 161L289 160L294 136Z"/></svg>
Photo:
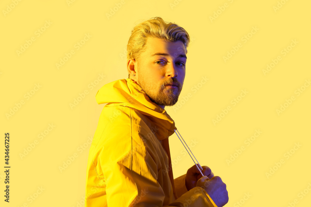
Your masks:
<svg viewBox="0 0 311 207"><path fill-rule="evenodd" d="M174 105L186 72L188 33L160 17L132 30L128 79L96 94L107 103L100 115L87 164L85 206L223 206L228 192L220 177L197 166L173 178L168 138Z"/></svg>

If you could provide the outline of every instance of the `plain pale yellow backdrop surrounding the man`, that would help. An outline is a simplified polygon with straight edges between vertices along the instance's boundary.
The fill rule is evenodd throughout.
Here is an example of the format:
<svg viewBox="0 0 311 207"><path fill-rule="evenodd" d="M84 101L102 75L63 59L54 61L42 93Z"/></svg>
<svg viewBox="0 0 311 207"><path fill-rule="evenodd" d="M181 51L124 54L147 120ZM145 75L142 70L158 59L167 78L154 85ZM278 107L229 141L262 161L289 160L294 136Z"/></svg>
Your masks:
<svg viewBox="0 0 311 207"><path fill-rule="evenodd" d="M252 207L288 206L295 199L299 201L295 206L310 205L311 192L302 199L298 194L311 183L311 87L299 96L296 90L311 78L311 2L124 0L109 18L106 14L121 1L13 2L16 0L0 3L1 206L83 204L90 148L87 140L93 137L103 108L96 103L95 94L104 84L127 78L125 50L131 29L139 20L155 16L177 23L192 37L179 97L181 107L165 110L185 141L197 142L192 151L199 163L209 166L226 183L226 206L239 206L236 202ZM227 7L222 7L225 3ZM277 5L281 7L278 10ZM211 20L213 15L217 18ZM42 27L45 31L38 36L36 31ZM248 34L252 27L258 31ZM75 44L85 34L91 37L77 50ZM244 35L252 37L244 43ZM16 50L32 37L35 41L18 55ZM298 43L283 56L281 51L292 40ZM223 56L239 43L242 47L225 62ZM58 69L56 63L71 50L75 53ZM264 74L262 70L277 56L281 61ZM99 74L105 77L97 82ZM202 76L209 80L198 85ZM92 82L97 85L91 89ZM35 84L41 87L32 91ZM202 87L194 92L194 86ZM85 90L88 94L71 108L70 103ZM242 90L247 95L233 106L231 100ZM27 100L27 92L35 93ZM188 93L192 97L181 102ZM278 114L276 110L291 96L295 100ZM21 100L25 103L7 118ZM213 124L228 106L232 110ZM49 133L40 140L38 134L49 124L55 127L45 131ZM255 130L262 133L247 146L244 141ZM4 133L10 133L10 203L3 197ZM21 159L20 154L35 140L38 144ZM169 140L172 160L181 157L173 168L176 178L194 163L181 153L184 148L176 134ZM301 146L286 159L284 154L295 143ZM83 144L86 148L81 150ZM243 146L245 150L228 165L226 160ZM74 153L78 156L61 172L59 166ZM266 173L281 159L285 163L267 178ZM38 187L44 191L31 200ZM251 196L245 200L244 193Z"/></svg>

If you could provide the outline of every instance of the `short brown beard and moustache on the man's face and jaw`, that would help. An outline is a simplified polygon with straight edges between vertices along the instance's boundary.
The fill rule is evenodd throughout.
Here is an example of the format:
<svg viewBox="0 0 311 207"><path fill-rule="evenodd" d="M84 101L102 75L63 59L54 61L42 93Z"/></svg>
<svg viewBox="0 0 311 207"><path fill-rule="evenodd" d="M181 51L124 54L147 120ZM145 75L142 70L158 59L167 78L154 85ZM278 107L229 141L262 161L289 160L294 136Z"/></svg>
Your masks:
<svg viewBox="0 0 311 207"><path fill-rule="evenodd" d="M140 71L139 67L137 71ZM146 95L150 98L152 102L162 106L173 106L175 103L177 103L182 86L176 78L171 78L168 81L159 84L152 82L147 78L147 74L141 72L142 71L138 72L139 76L137 78L137 82L144 90L144 92L146 92ZM178 83L177 94L175 94L176 92L174 93L174 91L176 91L176 88L165 87L166 84L173 82Z"/></svg>

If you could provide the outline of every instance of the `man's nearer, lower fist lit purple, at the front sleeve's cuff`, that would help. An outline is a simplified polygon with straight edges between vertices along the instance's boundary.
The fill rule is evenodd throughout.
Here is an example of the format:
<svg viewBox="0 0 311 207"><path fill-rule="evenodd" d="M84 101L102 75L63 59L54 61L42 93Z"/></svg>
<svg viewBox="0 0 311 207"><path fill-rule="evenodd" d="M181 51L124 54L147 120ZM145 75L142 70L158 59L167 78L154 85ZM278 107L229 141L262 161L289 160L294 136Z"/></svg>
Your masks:
<svg viewBox="0 0 311 207"><path fill-rule="evenodd" d="M197 187L202 187L218 207L228 203L229 197L226 184L222 182L219 176L214 176L211 179L203 176L197 181Z"/></svg>

